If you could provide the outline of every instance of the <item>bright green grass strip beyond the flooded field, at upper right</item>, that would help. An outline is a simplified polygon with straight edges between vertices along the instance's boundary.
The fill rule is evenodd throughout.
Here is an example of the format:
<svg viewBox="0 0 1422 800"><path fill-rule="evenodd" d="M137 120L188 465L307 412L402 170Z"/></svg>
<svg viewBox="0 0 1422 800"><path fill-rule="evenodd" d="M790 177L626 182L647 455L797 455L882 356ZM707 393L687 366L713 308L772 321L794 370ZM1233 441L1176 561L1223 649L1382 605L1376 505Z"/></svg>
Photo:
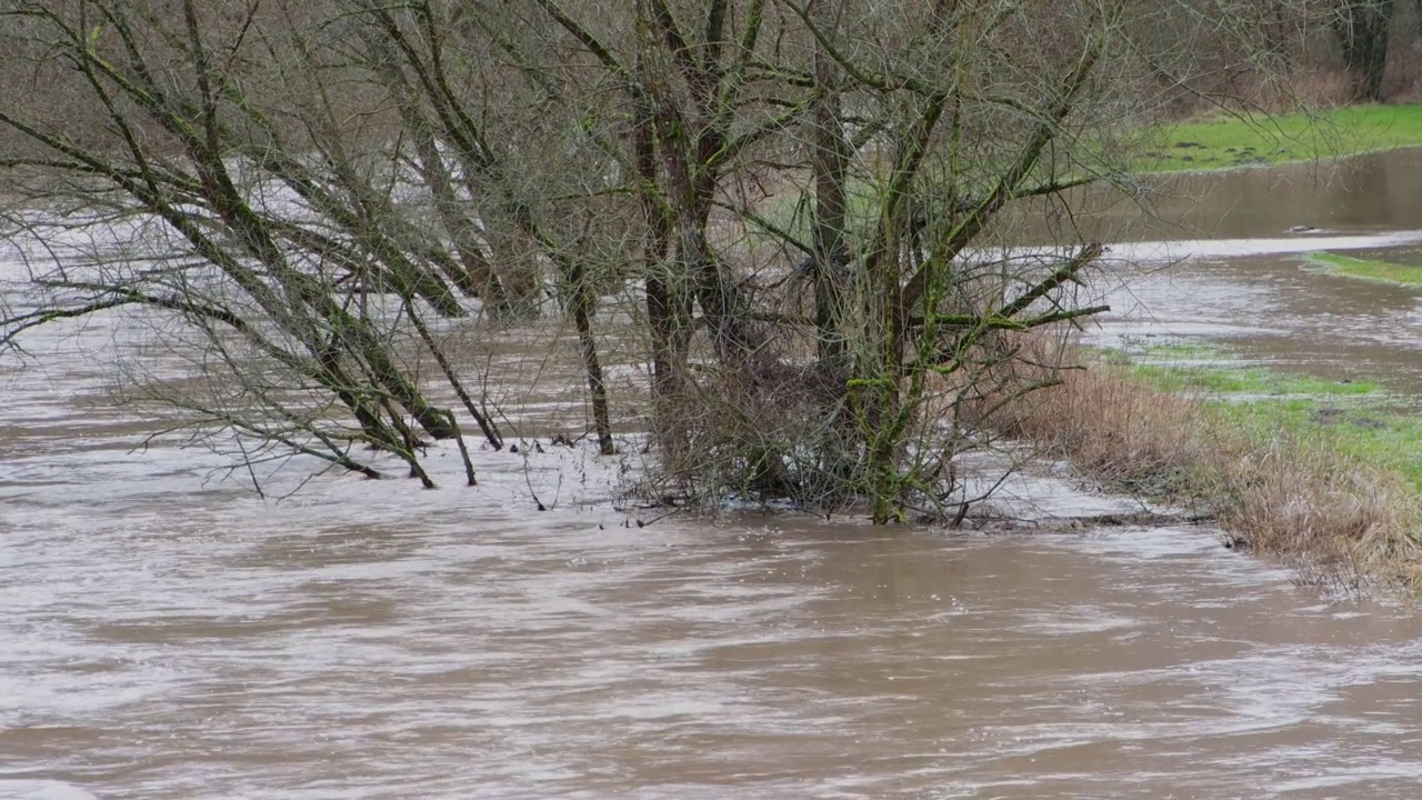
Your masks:
<svg viewBox="0 0 1422 800"><path fill-rule="evenodd" d="M1315 114L1220 117L1162 128L1139 172L1223 169L1342 158L1422 145L1422 105L1352 105Z"/></svg>

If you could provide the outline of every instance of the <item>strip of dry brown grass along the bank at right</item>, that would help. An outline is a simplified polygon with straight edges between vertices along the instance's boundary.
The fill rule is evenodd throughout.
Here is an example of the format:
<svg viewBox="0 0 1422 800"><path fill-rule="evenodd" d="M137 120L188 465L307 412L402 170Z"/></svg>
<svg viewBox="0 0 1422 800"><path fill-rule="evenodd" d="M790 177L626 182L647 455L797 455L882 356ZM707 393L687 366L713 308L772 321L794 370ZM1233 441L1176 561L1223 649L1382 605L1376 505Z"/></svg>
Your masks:
<svg viewBox="0 0 1422 800"><path fill-rule="evenodd" d="M1422 588L1422 498L1401 475L1298 437L1240 430L1123 369L1064 373L995 426L1103 485L1214 515L1227 545L1278 557L1307 582Z"/></svg>

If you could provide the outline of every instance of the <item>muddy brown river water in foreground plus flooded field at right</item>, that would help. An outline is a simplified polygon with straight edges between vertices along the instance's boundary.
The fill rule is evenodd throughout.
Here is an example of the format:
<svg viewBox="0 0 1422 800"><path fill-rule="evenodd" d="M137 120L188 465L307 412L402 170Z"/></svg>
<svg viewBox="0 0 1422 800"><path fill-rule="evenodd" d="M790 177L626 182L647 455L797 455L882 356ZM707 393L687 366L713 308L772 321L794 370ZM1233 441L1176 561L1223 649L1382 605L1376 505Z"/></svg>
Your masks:
<svg viewBox="0 0 1422 800"><path fill-rule="evenodd" d="M1422 295L1285 252L1297 223L1422 242L1422 159L1374 161L1348 192L1386 202L1270 189L1305 172L1193 184L1253 216L1118 245L1099 336L1411 386ZM1422 797L1422 615L1295 586L1209 528L638 527L656 512L609 502L636 464L567 448L478 450L479 488L432 493L270 463L301 491L263 501L220 457L139 447L151 426L102 401L115 336L55 327L48 366L0 373L3 799Z"/></svg>

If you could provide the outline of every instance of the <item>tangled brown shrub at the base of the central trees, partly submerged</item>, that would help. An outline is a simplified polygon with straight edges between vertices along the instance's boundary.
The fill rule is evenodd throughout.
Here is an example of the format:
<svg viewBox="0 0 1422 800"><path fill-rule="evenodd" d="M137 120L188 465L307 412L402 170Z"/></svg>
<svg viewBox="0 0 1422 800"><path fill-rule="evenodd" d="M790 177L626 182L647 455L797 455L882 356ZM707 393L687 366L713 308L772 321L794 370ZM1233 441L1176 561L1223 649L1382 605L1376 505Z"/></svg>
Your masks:
<svg viewBox="0 0 1422 800"><path fill-rule="evenodd" d="M877 502L892 507L890 518L961 521L985 497L970 494L960 457L995 450L988 419L1051 383L1022 380L1057 369L1061 347L1045 330L980 332L956 350L953 370L906 374L887 401L875 397L882 406L865 400L873 386L809 356L803 340L769 342L742 369L704 366L685 380L685 399L661 409L678 436L663 443L663 470L643 494L710 508L748 501L873 512ZM876 463L877 437L894 426Z"/></svg>

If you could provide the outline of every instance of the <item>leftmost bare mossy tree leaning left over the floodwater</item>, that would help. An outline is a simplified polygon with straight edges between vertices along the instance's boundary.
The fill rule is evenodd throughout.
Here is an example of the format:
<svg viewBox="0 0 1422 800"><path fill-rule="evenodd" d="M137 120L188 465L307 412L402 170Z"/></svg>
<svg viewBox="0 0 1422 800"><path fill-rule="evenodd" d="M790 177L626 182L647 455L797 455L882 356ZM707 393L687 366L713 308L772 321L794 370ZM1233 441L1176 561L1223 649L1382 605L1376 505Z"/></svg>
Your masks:
<svg viewBox="0 0 1422 800"><path fill-rule="evenodd" d="M20 142L4 159L7 188L30 201L11 222L41 241L78 232L100 243L87 262L34 275L54 295L13 319L6 339L117 306L176 315L225 362L260 359L280 373L242 383L247 416L195 411L293 447L300 431L301 451L341 465L367 443L428 483L419 437L459 428L427 399L381 315L465 310L432 266L439 245L390 211L398 162L348 149L380 121L338 130L358 101L337 105L301 80L320 56L296 11L78 0L17 3L4 17L7 51L31 71L30 90L0 110ZM267 105L274 85L280 105ZM54 118L44 100L54 94L87 110ZM75 211L88 218L64 219ZM373 312L365 292L398 303ZM354 430L316 424L327 399Z"/></svg>

